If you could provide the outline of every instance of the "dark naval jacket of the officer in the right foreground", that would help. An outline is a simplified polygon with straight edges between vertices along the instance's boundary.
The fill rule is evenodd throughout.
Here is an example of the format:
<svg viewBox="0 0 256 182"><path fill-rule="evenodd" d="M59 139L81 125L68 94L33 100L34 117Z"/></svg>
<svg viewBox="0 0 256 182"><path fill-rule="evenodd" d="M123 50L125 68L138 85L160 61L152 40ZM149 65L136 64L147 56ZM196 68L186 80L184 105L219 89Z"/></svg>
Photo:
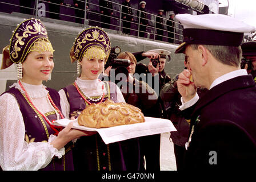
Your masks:
<svg viewBox="0 0 256 182"><path fill-rule="evenodd" d="M251 75L214 86L193 107L184 110L193 110L186 169L255 169L256 87Z"/></svg>

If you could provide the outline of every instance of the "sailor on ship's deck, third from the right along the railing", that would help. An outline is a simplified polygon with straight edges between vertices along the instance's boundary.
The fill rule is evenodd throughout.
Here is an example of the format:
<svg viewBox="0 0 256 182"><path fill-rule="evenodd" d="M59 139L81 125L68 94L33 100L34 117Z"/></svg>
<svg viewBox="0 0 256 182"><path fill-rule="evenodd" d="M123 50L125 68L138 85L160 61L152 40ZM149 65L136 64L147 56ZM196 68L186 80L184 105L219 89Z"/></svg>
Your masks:
<svg viewBox="0 0 256 182"><path fill-rule="evenodd" d="M139 36L145 37L146 26L149 25L149 21L147 20L147 13L145 10L146 2L139 2L139 11L137 11L137 17L139 19ZM146 25L146 26L145 26Z"/></svg>

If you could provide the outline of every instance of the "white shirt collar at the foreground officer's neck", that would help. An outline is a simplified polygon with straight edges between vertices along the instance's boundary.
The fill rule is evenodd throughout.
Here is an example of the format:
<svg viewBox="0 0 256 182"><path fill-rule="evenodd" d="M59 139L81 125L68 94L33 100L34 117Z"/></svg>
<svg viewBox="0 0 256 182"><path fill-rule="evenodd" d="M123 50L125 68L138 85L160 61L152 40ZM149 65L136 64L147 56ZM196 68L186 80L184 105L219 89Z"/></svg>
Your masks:
<svg viewBox="0 0 256 182"><path fill-rule="evenodd" d="M234 77L243 76L243 75L248 75L246 69L238 69L236 71L226 73L225 75L222 75L216 78L211 84L209 90L214 86L221 84L224 81L230 80L231 78L234 78Z"/></svg>

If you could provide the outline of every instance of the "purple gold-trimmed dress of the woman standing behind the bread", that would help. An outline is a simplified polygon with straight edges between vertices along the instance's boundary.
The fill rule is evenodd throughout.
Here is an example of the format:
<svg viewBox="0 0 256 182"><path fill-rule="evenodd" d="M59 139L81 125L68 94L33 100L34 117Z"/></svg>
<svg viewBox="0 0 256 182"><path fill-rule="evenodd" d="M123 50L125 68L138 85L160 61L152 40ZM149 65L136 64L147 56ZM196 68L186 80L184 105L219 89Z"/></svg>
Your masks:
<svg viewBox="0 0 256 182"><path fill-rule="evenodd" d="M115 84L105 82L105 86L108 93L103 101L109 98L116 102ZM66 86L63 90L70 104L70 117L77 118L88 104L73 84ZM105 144L99 134L79 138L73 148L73 158L74 169L78 171L123 171L126 169L120 142Z"/></svg>

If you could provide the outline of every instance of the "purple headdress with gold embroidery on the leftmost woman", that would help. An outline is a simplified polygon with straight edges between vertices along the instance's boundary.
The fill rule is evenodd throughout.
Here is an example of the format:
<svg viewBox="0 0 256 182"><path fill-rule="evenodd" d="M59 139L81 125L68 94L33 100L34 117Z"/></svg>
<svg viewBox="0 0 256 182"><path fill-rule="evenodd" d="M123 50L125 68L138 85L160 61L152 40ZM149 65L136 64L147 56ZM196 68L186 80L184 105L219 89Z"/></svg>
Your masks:
<svg viewBox="0 0 256 182"><path fill-rule="evenodd" d="M54 52L45 25L39 19L34 18L24 20L13 31L10 45L3 48L1 69L9 67L13 63L23 63L31 51Z"/></svg>

